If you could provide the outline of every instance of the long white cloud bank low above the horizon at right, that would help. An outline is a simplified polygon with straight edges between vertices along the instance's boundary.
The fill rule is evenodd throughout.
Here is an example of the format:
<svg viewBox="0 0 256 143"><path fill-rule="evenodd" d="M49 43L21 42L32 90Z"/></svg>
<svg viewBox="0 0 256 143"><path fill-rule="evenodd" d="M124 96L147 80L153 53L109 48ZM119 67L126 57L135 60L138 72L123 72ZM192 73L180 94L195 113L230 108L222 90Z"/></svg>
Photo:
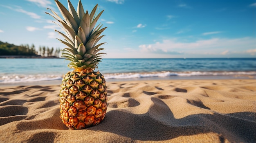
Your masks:
<svg viewBox="0 0 256 143"><path fill-rule="evenodd" d="M155 44L139 45L141 51L155 53L163 51L166 53L187 53L187 54L203 54L211 53L216 55L225 55L227 53L255 53L256 39L252 37L244 37L238 39L219 39L213 38L208 40L198 40L195 42L179 42L175 39L162 40ZM226 49L223 51L223 49Z"/></svg>

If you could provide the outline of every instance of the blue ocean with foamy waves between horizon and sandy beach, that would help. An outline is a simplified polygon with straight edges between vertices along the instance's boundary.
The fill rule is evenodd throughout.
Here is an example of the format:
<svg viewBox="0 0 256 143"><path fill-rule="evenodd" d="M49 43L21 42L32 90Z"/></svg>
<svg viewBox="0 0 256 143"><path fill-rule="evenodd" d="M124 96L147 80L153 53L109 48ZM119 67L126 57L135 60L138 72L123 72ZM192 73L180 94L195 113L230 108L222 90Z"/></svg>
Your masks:
<svg viewBox="0 0 256 143"><path fill-rule="evenodd" d="M0 59L0 85L61 82L70 68L64 59ZM256 79L256 58L103 59L106 81L147 79Z"/></svg>

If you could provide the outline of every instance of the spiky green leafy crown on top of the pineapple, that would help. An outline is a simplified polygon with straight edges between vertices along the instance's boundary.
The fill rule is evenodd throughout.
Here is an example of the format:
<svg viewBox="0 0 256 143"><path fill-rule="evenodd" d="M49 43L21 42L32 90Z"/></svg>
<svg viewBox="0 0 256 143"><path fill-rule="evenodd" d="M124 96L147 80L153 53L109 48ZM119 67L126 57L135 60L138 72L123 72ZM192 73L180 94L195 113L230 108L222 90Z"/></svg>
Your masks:
<svg viewBox="0 0 256 143"><path fill-rule="evenodd" d="M98 4L96 4L89 14L87 10L86 12L84 11L81 0L79 0L77 10L74 9L70 0L67 0L68 10L58 0L55 0L55 2L64 20L52 9L48 8L53 14L46 13L55 18L59 24L54 23L65 31L64 34L55 30L64 37L64 40L58 40L67 46L62 50L62 57L69 60L68 66L75 70L94 70L94 68L98 68L97 64L101 62L100 57L106 53L98 53L104 50L104 48L99 48L99 46L105 43L96 44L104 36L101 33L107 27L101 28L103 24L99 24L96 27L95 25L104 10L97 15Z"/></svg>

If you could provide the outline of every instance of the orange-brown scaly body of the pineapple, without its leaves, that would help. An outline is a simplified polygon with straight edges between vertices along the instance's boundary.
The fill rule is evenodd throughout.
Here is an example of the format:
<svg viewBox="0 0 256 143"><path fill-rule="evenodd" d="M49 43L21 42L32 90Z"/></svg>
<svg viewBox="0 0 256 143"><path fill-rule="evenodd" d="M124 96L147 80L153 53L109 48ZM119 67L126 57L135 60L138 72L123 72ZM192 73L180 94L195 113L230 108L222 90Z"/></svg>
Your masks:
<svg viewBox="0 0 256 143"><path fill-rule="evenodd" d="M70 129L98 125L106 116L107 86L99 71L69 71L63 76L59 97L60 118Z"/></svg>

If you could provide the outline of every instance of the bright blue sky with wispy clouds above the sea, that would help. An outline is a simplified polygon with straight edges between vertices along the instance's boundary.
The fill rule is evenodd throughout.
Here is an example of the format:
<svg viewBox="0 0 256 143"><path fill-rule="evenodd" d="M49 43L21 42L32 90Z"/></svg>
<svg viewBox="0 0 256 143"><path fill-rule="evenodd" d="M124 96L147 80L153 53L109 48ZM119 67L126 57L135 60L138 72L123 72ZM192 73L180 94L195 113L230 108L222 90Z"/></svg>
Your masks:
<svg viewBox="0 0 256 143"><path fill-rule="evenodd" d="M256 57L256 0L81 2L89 12L95 4L105 10L104 58ZM58 12L54 0L1 0L0 41L65 48L46 8Z"/></svg>

